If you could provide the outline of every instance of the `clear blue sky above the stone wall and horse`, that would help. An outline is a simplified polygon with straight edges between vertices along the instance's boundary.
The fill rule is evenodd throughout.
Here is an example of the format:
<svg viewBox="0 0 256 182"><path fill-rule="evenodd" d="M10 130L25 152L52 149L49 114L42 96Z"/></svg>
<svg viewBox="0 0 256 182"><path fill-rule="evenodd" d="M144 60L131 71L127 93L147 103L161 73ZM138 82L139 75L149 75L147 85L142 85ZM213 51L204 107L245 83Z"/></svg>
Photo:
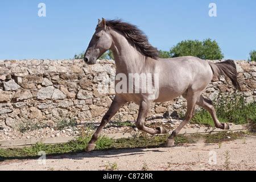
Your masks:
<svg viewBox="0 0 256 182"><path fill-rule="evenodd" d="M46 17L38 4L46 4ZM217 17L209 17L209 3ZM216 40L225 59L248 59L256 49L255 0L0 1L0 59L69 59L86 49L97 19L137 25L152 46L169 50L185 39Z"/></svg>

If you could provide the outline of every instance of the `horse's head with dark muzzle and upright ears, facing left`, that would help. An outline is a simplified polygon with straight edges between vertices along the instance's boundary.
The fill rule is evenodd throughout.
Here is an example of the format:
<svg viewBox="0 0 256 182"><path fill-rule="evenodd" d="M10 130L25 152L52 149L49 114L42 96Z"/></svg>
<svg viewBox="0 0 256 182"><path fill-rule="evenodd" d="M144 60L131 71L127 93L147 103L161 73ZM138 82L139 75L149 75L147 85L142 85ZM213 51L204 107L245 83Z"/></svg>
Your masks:
<svg viewBox="0 0 256 182"><path fill-rule="evenodd" d="M96 31L94 32L89 46L84 54L84 61L87 64L95 64L96 60L108 51L112 46L112 36L109 34L106 20L98 19Z"/></svg>

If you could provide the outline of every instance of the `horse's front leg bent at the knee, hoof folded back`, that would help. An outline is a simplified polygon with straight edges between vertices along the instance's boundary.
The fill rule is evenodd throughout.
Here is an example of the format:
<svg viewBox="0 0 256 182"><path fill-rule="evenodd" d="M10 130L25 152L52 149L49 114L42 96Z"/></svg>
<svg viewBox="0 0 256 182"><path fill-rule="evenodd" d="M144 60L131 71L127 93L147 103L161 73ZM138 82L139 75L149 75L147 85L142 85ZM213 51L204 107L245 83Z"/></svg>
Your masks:
<svg viewBox="0 0 256 182"><path fill-rule="evenodd" d="M145 131L151 135L154 134L166 134L167 131L162 126L156 127L155 129L152 129L150 127L144 126L144 121L146 119L146 115L148 113L148 110L150 109L150 104L152 101L143 100L141 104L139 105L139 114L137 118L136 127L139 130Z"/></svg>

